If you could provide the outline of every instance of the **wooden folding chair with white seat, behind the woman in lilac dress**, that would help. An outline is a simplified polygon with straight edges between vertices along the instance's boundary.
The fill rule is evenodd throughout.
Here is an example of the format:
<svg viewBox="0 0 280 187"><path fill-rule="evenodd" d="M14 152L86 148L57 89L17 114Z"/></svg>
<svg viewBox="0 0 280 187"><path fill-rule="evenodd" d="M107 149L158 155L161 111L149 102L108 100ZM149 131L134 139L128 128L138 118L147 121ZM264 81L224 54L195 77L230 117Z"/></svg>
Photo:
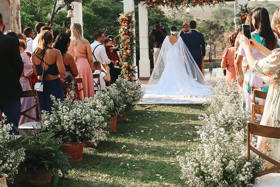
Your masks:
<svg viewBox="0 0 280 187"><path fill-rule="evenodd" d="M23 91L22 92L22 98L24 97L34 97L35 99L35 104L30 106L29 108L25 109L24 111L20 112L20 115L23 115L31 120L34 120L35 122L27 122L24 124L21 124L18 126L18 129L41 129L41 108L40 108L40 104L39 104L39 98L38 98L38 94L36 90L27 90L27 91ZM26 114L26 112L28 112L29 110L38 107L38 112L39 112L39 119L34 118L32 116L29 116Z"/></svg>

